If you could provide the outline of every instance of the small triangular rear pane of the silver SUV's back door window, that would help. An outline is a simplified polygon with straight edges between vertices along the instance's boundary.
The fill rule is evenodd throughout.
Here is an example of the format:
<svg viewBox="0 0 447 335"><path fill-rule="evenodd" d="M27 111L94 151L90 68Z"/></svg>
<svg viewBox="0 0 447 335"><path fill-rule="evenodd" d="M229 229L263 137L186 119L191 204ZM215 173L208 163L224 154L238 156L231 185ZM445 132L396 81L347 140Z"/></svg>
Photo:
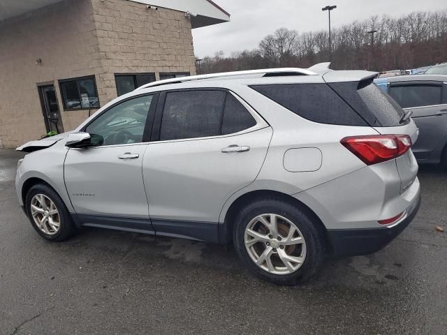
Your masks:
<svg viewBox="0 0 447 335"><path fill-rule="evenodd" d="M222 134L237 133L253 126L256 126L256 121L249 111L232 94L228 94L223 112Z"/></svg>

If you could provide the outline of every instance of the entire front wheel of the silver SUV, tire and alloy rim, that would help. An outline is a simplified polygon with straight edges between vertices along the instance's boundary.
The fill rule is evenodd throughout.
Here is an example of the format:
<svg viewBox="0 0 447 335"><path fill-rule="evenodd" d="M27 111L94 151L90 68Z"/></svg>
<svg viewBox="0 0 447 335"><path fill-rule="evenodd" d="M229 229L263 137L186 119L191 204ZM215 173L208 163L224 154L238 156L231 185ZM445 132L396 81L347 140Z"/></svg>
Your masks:
<svg viewBox="0 0 447 335"><path fill-rule="evenodd" d="M42 200L45 202L44 205L42 204ZM31 207L31 204L33 204L33 207ZM47 216L46 219L45 214L42 212L42 209L45 207L47 214L53 213L50 216ZM54 208L57 210L57 213L54 212ZM36 184L29 189L25 199L25 209L33 228L41 235L41 237L47 240L64 241L76 232L73 220L71 219L68 209L61 197L59 197L52 188L45 184ZM38 209L38 211L36 211L36 209ZM36 221L44 222L43 225L41 225L43 228L39 228ZM50 222L52 224L50 224ZM58 228L57 223L59 223ZM46 232L44 230L46 230Z"/></svg>

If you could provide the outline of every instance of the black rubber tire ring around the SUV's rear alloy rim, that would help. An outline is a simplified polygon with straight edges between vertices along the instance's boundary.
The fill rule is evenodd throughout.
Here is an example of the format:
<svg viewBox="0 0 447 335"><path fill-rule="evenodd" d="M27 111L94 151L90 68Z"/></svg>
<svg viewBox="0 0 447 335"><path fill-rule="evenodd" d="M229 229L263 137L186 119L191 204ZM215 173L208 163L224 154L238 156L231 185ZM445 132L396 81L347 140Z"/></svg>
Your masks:
<svg viewBox="0 0 447 335"><path fill-rule="evenodd" d="M276 275L270 274L261 269L251 260L244 244L245 228L248 223L260 214L277 214L288 218L302 232L302 236L306 241L306 258L303 265L293 274ZM305 210L302 210L288 202L281 200L261 200L253 202L242 209L235 220L235 230L233 231L233 242L240 256L242 263L251 271L251 273L266 281L278 285L297 285L304 283L314 276L320 269L324 260L324 238L318 229L318 224L314 222L314 218Z"/></svg>

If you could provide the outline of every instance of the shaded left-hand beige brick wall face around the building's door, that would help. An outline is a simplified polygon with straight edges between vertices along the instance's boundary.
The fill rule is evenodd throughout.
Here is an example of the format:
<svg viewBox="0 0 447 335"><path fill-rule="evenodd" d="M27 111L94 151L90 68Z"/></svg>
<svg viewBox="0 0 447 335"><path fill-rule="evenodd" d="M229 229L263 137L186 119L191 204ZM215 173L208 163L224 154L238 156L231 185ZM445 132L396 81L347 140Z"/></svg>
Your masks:
<svg viewBox="0 0 447 335"><path fill-rule="evenodd" d="M91 0L63 1L0 22L0 139L15 147L46 133L38 83L94 75L98 40ZM42 59L36 64L36 59ZM64 129L75 128L87 112L61 112Z"/></svg>

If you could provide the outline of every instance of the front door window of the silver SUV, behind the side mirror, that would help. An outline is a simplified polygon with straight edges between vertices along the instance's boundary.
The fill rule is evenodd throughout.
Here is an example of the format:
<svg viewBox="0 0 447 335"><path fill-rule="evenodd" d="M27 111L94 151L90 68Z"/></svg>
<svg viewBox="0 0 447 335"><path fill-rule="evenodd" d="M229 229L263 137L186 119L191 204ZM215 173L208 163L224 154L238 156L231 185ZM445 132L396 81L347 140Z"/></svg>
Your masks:
<svg viewBox="0 0 447 335"><path fill-rule="evenodd" d="M94 119L85 131L102 138L102 145L142 142L152 97L140 96L115 105Z"/></svg>

